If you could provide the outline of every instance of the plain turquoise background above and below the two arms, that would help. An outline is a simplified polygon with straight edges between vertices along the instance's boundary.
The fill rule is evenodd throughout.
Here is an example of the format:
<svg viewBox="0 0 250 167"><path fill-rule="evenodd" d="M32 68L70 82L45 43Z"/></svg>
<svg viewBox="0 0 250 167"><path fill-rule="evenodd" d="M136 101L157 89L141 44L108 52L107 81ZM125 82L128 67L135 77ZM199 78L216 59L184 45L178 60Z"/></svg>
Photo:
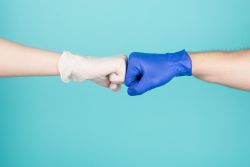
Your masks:
<svg viewBox="0 0 250 167"><path fill-rule="evenodd" d="M1 0L0 36L81 55L250 47L248 0ZM182 77L143 96L0 79L1 167L249 167L250 94Z"/></svg>

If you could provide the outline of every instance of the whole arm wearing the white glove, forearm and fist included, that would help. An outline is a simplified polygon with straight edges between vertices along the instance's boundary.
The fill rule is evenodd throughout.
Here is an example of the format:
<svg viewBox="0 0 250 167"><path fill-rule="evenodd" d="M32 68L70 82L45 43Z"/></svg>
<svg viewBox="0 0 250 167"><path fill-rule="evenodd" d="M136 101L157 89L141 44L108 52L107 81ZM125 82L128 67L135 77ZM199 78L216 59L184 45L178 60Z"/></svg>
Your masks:
<svg viewBox="0 0 250 167"><path fill-rule="evenodd" d="M0 77L56 76L64 82L91 80L119 90L124 82L126 56L80 56L32 48L0 38Z"/></svg>

